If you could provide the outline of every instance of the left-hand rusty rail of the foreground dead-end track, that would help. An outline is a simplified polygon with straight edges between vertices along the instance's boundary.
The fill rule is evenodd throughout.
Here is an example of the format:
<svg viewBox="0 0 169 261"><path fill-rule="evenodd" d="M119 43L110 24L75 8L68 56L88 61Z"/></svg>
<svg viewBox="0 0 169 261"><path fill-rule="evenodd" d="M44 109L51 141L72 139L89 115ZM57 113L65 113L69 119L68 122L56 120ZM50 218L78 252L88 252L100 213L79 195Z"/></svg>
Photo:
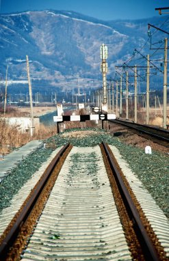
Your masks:
<svg viewBox="0 0 169 261"><path fill-rule="evenodd" d="M29 213L31 212L31 209L33 209L36 201L38 200L38 197L40 196L40 193L42 192L44 186L47 184L47 181L49 180L49 177L51 176L51 173L53 169L55 168L55 165L58 163L60 160L60 157L64 154L66 149L68 148L70 144L66 144L54 157L53 161L51 164L48 166L45 175L42 177L42 180L40 183L38 183L38 186L32 196L29 198L27 201L27 204L25 207L23 207L21 213L18 215L16 218L16 221L14 225L12 226L12 229L8 232L8 234L5 236L3 242L0 245L0 257L1 261L5 260L8 251L10 247L12 247L14 240L16 240L16 236L18 235L21 226L23 223L25 223L25 220L27 220L27 217L29 216Z"/></svg>

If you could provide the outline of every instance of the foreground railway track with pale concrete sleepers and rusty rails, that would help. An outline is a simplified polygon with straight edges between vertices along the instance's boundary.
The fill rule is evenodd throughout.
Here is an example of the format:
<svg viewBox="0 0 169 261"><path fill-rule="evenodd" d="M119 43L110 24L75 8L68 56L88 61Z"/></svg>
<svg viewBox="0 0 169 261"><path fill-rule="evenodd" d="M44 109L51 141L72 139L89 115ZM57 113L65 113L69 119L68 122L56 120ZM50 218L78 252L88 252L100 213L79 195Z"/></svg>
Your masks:
<svg viewBox="0 0 169 261"><path fill-rule="evenodd" d="M67 144L39 179L0 216L1 260L168 260L168 220L114 146Z"/></svg>

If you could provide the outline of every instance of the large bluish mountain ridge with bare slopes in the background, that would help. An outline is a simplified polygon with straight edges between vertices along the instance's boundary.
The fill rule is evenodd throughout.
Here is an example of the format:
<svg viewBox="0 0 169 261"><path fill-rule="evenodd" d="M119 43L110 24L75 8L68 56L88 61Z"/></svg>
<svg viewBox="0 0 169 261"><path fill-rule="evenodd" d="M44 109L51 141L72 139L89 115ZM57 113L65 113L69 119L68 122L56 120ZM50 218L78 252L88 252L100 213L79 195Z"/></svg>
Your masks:
<svg viewBox="0 0 169 261"><path fill-rule="evenodd" d="M102 86L100 47L108 47L108 75L114 78L114 65L122 65L134 49L148 41L148 23L169 30L166 17L136 21L101 21L76 12L34 11L0 15L0 80L27 80L26 55L33 92L83 90ZM163 29L164 29L163 27ZM153 31L155 31L153 29ZM164 39L160 31L154 41ZM142 54L148 54L145 45ZM155 51L153 51L155 52ZM164 52L164 51L163 51ZM160 52L159 57L164 56ZM144 63L146 65L146 63ZM27 84L12 84L10 91L27 93Z"/></svg>

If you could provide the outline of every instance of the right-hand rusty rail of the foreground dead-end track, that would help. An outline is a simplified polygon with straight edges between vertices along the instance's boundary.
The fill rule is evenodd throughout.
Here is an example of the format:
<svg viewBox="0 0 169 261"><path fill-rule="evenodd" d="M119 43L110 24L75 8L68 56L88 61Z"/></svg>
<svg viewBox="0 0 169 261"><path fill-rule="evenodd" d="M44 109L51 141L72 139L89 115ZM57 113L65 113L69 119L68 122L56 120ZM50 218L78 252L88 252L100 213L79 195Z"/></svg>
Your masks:
<svg viewBox="0 0 169 261"><path fill-rule="evenodd" d="M107 160L109 161L109 166L112 169L114 178L116 179L116 183L118 184L120 194L123 198L123 201L125 202L125 205L127 206L128 215L133 221L135 234L138 235L138 238L140 239L140 245L142 246L142 249L144 249L145 260L157 261L159 260L157 252L155 251L155 247L153 246L153 243L151 242L151 239L149 238L146 229L142 224L142 220L140 219L140 215L138 214L138 209L136 209L129 192L127 191L127 188L122 180L116 163L114 162L112 156L109 153L107 144L105 144L104 142L102 144L105 150L105 154L107 156Z"/></svg>

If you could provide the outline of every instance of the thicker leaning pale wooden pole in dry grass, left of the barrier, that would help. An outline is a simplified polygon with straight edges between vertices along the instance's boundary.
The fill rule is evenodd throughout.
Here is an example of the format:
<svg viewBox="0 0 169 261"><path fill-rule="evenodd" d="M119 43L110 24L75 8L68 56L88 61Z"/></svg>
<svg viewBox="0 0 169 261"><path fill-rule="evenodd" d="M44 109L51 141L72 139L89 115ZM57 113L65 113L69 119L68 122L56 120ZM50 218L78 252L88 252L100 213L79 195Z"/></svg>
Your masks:
<svg viewBox="0 0 169 261"><path fill-rule="evenodd" d="M30 129L30 135L31 137L34 135L34 111L33 111L33 102L32 102L32 92L31 92L31 80L29 75L29 59L28 56L26 56L27 60L27 78L28 78L28 84L29 84L29 100L30 100L30 109L31 109L31 129Z"/></svg>

